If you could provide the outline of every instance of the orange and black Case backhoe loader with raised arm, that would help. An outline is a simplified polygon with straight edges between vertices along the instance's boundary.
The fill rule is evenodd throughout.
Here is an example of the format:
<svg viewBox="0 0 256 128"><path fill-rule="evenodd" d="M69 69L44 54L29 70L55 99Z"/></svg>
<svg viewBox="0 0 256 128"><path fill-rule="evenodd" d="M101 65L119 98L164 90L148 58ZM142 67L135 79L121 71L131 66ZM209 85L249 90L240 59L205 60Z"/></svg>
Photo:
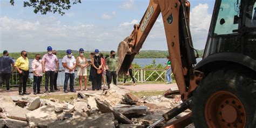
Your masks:
<svg viewBox="0 0 256 128"><path fill-rule="evenodd" d="M149 127L256 127L256 0L216 0L203 60L190 33L190 2L150 0L139 24L118 46L118 75L126 72L156 22L163 18L173 75L183 103ZM195 55L196 53L196 55Z"/></svg>

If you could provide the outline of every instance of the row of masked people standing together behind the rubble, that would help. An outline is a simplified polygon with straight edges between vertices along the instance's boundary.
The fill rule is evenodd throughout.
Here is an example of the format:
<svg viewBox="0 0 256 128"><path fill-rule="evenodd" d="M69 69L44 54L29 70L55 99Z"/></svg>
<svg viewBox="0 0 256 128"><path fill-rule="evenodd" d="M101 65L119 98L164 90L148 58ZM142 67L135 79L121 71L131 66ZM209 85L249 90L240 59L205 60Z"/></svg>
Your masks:
<svg viewBox="0 0 256 128"><path fill-rule="evenodd" d="M51 46L48 46L47 52L43 55L36 54L35 59L31 62L31 69L33 71L33 94L37 95L41 92L41 82L43 74L45 74L45 91L44 93L60 91L57 87L57 78L59 71L59 60L57 51L52 50ZM15 68L19 76L19 95L30 95L30 92L26 91L26 83L29 77L29 59L26 51L21 51L21 57L16 62L9 57L8 51L3 52L3 56L0 57L0 86L5 80L6 90L10 90L9 79L11 76L12 67ZM102 86L108 86L110 88L111 81L117 85L117 57L115 52L111 51L110 56L104 58L103 54L99 53L96 49L95 52L90 53L90 63L87 62L84 56L84 49L79 49L79 56L75 58L72 54L72 50L66 50L66 55L62 59L62 65L65 69L65 80L64 80L64 92L68 93L68 80L70 80L70 91L74 90L75 70L76 75L79 78L80 91L83 91L83 79L84 79L84 90L87 91L87 66L90 67L89 80L92 82L92 90L101 90ZM135 80L132 76L131 67L127 71L126 75L131 75L133 83ZM105 81L106 79L106 81ZM102 85L103 80L103 85ZM126 77L124 83L126 81ZM50 84L50 90L48 85Z"/></svg>

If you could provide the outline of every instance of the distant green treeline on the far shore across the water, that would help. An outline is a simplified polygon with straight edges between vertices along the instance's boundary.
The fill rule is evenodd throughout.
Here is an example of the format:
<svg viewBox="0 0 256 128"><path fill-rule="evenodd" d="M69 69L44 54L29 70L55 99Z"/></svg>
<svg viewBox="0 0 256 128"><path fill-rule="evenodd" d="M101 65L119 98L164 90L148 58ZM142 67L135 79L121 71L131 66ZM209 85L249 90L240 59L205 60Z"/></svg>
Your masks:
<svg viewBox="0 0 256 128"><path fill-rule="evenodd" d="M78 56L78 51L73 50L73 55L75 57ZM84 55L86 57L89 57L89 54L93 52L93 51L85 51ZM41 57L43 57L44 54L46 54L47 52L27 52L28 53L28 58L32 59L35 58L36 53L39 53L41 55ZM103 55L110 55L110 51L102 51L101 53L103 53ZM198 54L199 57L202 57L204 53L204 50L198 50ZM166 58L166 56L168 55L168 51L159 51L159 50L144 50L144 51L140 51L139 54L137 56L135 56L135 58ZM66 55L66 51L64 50L59 50L57 51L57 57L58 58L63 58ZM18 57L21 56L20 52L10 52L9 56L17 59Z"/></svg>

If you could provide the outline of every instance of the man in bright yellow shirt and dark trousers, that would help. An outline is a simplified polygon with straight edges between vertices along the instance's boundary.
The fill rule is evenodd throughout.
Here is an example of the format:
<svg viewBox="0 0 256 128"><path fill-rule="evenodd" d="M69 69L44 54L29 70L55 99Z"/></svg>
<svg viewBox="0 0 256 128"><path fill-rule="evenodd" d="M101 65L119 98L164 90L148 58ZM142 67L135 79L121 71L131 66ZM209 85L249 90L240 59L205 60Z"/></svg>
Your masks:
<svg viewBox="0 0 256 128"><path fill-rule="evenodd" d="M26 82L29 78L29 59L27 58L26 51L21 52L21 57L19 57L15 62L15 69L19 72L19 95L30 95L30 92L26 92ZM23 93L22 93L23 87Z"/></svg>

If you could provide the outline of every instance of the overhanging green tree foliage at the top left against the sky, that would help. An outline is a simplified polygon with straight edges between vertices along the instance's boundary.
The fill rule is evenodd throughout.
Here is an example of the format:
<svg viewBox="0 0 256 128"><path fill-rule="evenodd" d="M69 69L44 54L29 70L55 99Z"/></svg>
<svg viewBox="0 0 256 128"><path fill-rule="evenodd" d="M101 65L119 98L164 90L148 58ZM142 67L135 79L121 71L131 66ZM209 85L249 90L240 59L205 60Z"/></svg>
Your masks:
<svg viewBox="0 0 256 128"><path fill-rule="evenodd" d="M81 3L81 0L29 0L23 2L24 7L34 8L33 12L41 12L42 15L46 15L48 12L58 12L60 15L65 14L65 10L71 8L71 4ZM14 5L15 0L10 0L10 4Z"/></svg>

